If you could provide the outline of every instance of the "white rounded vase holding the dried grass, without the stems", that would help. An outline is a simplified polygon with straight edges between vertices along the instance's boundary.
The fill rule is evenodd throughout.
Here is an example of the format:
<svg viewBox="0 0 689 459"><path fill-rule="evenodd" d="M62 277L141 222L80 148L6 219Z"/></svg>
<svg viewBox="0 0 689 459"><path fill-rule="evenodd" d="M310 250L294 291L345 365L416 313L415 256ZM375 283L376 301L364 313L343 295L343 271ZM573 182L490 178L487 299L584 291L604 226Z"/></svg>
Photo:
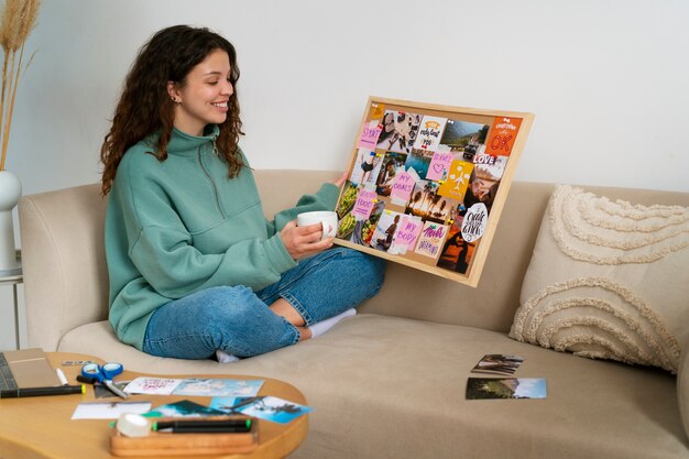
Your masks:
<svg viewBox="0 0 689 459"><path fill-rule="evenodd" d="M0 271L19 267L14 247L12 209L22 195L22 184L17 175L0 171Z"/></svg>

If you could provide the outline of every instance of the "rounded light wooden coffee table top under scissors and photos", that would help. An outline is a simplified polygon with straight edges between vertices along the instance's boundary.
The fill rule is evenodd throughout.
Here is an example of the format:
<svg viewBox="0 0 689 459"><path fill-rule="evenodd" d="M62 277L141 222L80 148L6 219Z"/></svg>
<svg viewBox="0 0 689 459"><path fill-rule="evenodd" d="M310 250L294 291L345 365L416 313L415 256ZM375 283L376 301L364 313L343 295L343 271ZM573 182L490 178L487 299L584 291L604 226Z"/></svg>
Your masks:
<svg viewBox="0 0 689 459"><path fill-rule="evenodd" d="M102 360L79 353L48 352L54 368L61 368L70 384L77 384L76 376L80 364L66 362ZM128 381L144 375L127 371L118 381ZM162 376L162 375L154 375ZM270 378L219 374L185 374L166 378L228 378L261 379L264 381L259 395L273 395L298 404L306 404L304 395L294 386ZM209 405L210 397L189 397L175 395L132 395L128 401L149 401L152 407L190 400L201 405ZM0 400L0 457L2 459L74 459L74 458L112 458L110 455L110 435L112 427L108 419L72 420L74 409L84 402L117 402L121 398L96 398L94 389L87 385L86 394L54 395L25 398ZM198 456L199 458L283 458L294 451L306 438L308 415L299 416L288 424L259 422L259 447L244 455ZM182 435L182 434L179 434Z"/></svg>

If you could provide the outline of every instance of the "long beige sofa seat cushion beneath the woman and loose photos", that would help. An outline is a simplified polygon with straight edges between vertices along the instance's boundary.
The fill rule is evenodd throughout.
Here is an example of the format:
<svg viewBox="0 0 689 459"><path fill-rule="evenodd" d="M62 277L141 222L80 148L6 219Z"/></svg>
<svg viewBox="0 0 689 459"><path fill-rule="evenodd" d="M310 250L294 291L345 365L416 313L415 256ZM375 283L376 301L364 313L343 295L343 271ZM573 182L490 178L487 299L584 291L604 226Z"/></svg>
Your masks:
<svg viewBox="0 0 689 459"><path fill-rule="evenodd" d="M139 372L293 384L314 408L294 458L550 459L567 451L569 459L653 459L689 451L667 372L578 359L478 328L359 314L316 339L221 364L146 356L100 323L69 331L59 346L85 349ZM464 400L470 371L486 353L524 357L516 376L545 378L547 398Z"/></svg>

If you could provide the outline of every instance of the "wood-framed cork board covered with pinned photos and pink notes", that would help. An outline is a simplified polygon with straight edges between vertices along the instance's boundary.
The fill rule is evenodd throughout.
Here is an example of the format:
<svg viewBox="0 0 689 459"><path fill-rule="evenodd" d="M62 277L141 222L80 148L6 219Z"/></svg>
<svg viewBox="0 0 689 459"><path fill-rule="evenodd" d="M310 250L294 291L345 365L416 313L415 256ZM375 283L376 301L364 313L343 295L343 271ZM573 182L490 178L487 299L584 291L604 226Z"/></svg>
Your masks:
<svg viewBox="0 0 689 459"><path fill-rule="evenodd" d="M533 119L369 98L336 242L475 287Z"/></svg>

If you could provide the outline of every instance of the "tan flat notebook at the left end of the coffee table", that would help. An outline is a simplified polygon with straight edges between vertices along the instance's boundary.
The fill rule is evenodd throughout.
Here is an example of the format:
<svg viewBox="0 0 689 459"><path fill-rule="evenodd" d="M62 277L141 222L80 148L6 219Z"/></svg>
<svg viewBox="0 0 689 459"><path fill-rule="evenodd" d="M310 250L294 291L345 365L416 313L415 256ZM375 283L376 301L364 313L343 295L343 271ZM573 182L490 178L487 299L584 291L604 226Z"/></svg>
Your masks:
<svg viewBox="0 0 689 459"><path fill-rule="evenodd" d="M62 385L43 349L0 352L0 390Z"/></svg>

